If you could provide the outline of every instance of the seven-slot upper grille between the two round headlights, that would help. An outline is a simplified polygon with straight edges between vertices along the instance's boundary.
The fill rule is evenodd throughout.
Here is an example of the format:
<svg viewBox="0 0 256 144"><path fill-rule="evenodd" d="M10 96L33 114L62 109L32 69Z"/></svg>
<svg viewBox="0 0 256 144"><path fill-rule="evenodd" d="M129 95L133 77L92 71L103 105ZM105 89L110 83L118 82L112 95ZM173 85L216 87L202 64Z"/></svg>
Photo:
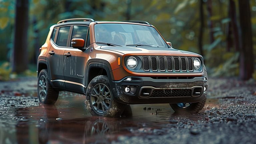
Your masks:
<svg viewBox="0 0 256 144"><path fill-rule="evenodd" d="M193 71L193 59L191 57L163 57L143 56L144 71Z"/></svg>

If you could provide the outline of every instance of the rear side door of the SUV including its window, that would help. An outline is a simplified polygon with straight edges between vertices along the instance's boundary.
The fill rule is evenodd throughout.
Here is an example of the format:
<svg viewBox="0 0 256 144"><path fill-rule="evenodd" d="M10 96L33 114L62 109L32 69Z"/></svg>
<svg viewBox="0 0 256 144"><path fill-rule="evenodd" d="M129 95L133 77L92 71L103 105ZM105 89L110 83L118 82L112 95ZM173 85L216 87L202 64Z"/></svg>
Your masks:
<svg viewBox="0 0 256 144"><path fill-rule="evenodd" d="M65 79L63 74L64 52L68 44L70 26L64 26L54 29L56 31L55 39L51 41L51 49L48 53L49 71L53 86L65 88Z"/></svg>

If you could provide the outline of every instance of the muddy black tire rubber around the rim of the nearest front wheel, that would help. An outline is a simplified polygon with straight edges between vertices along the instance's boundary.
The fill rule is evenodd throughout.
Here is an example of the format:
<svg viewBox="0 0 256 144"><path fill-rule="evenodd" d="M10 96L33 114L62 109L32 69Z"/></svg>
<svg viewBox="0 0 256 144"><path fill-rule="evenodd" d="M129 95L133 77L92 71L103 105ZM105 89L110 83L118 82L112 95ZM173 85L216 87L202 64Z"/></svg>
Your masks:
<svg viewBox="0 0 256 144"><path fill-rule="evenodd" d="M95 103L95 98L91 99L91 97L92 97L91 94L94 93L93 92L94 87L98 84L103 84L103 85L107 86L108 90L110 92L111 102L110 102L110 105L108 106L109 108L107 110L105 109L105 112L103 112L103 113L96 111L92 105L93 99L94 99L94 103ZM125 104L119 103L114 99L113 92L110 89L109 80L106 76L103 76L103 75L96 76L95 78L93 78L91 80L91 82L89 83L89 85L87 87L86 99L88 102L85 105L85 107L89 110L89 112L93 116L119 117L123 113L123 111L126 107ZM98 99L96 101L98 101ZM103 109L103 106L101 108Z"/></svg>

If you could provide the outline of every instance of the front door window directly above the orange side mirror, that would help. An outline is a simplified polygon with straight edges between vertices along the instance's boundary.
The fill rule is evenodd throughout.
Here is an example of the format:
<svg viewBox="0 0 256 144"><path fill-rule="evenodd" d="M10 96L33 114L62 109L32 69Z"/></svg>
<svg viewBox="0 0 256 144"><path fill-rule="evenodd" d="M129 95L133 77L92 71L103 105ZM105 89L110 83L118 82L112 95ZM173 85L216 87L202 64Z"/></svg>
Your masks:
<svg viewBox="0 0 256 144"><path fill-rule="evenodd" d="M88 32L88 27L87 26L74 26L73 31L72 31L72 37L73 38L82 38L86 42L86 36ZM69 44L70 46L71 44Z"/></svg>

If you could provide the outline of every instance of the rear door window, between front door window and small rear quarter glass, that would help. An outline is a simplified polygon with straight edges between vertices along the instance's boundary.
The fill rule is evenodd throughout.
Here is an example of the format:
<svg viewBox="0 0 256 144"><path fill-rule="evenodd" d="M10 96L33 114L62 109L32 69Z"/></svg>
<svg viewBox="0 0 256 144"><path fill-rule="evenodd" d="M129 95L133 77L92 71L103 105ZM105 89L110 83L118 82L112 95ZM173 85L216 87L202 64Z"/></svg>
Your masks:
<svg viewBox="0 0 256 144"><path fill-rule="evenodd" d="M60 27L57 42L56 44L59 46L67 46L68 34L69 34L70 26Z"/></svg>

